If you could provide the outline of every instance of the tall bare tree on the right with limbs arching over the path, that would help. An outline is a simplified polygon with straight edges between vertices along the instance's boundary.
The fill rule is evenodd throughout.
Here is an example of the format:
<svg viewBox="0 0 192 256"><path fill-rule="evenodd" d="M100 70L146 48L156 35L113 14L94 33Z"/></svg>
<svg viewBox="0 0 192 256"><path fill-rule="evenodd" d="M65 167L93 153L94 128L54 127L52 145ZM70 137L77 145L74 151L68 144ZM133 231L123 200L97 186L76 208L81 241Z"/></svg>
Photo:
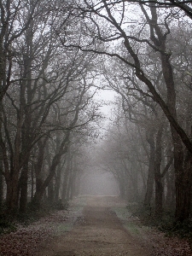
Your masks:
<svg viewBox="0 0 192 256"><path fill-rule="evenodd" d="M84 20L81 26L86 24L86 26L83 26L86 32L82 33L80 42L76 42L74 38L73 42L70 41L66 33L66 41L63 42L63 45L117 57L126 65L134 68L137 79L147 85L148 89L145 91L148 91L154 102L160 105L171 124L177 187L176 218L183 221L183 219L189 218L189 194L185 192L191 188L191 183L186 182L186 180L191 180L192 143L188 131L184 131L183 126L177 120L176 89L171 62L172 53L167 48L167 38L171 33L170 22L174 22L175 18L169 9L163 12L158 7L159 5L156 2L148 3L148 7L145 7L142 3L138 4L142 19L140 20L140 17L133 12L134 19L137 20L139 25L134 26L135 29L132 30L133 18L130 15L130 3L124 1L113 3L113 1L105 0L96 3L90 1L79 3L77 4L78 17L81 15L82 20ZM77 12L74 13L73 17L76 15ZM102 26L103 24L105 24L105 27ZM124 47L122 53L119 52L119 49L113 47L112 42L117 42L117 44L122 42ZM105 50L103 44L108 45L108 50ZM139 55L141 51L147 49L147 46L156 52L156 56L160 58L160 68L166 84L166 97L162 96L160 91L155 88L155 84L148 74L148 69L143 65L142 58ZM188 151L185 158L183 144ZM186 169L184 166L189 166L189 168Z"/></svg>

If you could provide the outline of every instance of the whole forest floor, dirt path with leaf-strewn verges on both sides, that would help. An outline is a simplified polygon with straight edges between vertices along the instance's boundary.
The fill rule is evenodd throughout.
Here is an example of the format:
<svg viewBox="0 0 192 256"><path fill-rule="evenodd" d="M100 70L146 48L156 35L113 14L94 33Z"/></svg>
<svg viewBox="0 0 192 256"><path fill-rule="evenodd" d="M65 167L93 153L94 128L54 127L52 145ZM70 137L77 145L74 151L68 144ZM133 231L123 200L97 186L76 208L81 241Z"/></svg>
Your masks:
<svg viewBox="0 0 192 256"><path fill-rule="evenodd" d="M189 243L144 226L115 196L84 196L0 237L6 256L189 256Z"/></svg>

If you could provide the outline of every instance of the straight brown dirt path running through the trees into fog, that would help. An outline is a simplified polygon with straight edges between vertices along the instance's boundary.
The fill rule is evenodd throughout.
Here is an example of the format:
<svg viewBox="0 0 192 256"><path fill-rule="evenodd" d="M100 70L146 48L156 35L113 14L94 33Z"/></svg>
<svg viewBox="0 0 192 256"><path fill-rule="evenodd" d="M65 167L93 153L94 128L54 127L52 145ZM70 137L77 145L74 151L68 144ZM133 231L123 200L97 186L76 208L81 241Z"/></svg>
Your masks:
<svg viewBox="0 0 192 256"><path fill-rule="evenodd" d="M89 197L73 230L51 241L39 256L150 255L148 248L125 230L112 206L118 206L115 197Z"/></svg>

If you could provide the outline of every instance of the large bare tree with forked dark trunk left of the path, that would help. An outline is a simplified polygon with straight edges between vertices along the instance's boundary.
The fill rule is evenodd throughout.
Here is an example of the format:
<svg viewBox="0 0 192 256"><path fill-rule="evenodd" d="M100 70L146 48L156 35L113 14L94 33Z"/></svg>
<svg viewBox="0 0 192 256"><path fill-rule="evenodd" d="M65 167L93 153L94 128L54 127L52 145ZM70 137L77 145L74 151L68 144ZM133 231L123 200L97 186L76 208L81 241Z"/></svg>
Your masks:
<svg viewBox="0 0 192 256"><path fill-rule="evenodd" d="M47 2L42 1L34 9L33 3L26 3L22 17L26 17L26 20L30 17L30 22L27 21L25 29L24 20L17 16L17 13L17 20L14 20L15 15L9 17L12 23L18 21L20 31L20 36L18 33L11 44L15 55L12 58L9 79L5 79L11 86L6 89L1 108L3 176L7 185L7 213L11 217L15 217L18 212L18 201L20 212L26 211L29 165L32 149L36 144L42 148L41 143L45 146L47 138L52 136L54 131L65 131L60 148L50 166L51 174L43 186L46 189L61 155L67 150L71 129L78 121L80 124L76 126L86 125L96 115L96 108L91 112L90 119L83 120L81 113L92 99L92 96L87 96L90 85L85 86L82 77L87 73L90 79L94 76L94 72L88 72L88 67L91 69L93 66L94 56L61 49L60 41L55 37L51 26L51 22L57 17L47 6L44 8L45 4ZM61 101L66 102L57 108ZM56 115L53 114L53 108L58 110ZM62 116L67 117L63 119L64 124L61 124Z"/></svg>

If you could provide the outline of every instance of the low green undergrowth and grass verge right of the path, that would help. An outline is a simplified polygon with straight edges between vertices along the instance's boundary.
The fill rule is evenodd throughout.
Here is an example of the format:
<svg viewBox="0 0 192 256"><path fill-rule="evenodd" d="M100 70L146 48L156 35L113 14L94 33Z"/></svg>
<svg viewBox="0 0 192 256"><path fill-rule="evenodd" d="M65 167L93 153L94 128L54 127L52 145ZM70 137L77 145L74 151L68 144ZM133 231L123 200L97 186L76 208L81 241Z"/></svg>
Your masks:
<svg viewBox="0 0 192 256"><path fill-rule="evenodd" d="M178 237L189 242L192 249L192 219L176 222L172 209L166 209L162 218L156 218L153 208L146 209L141 204L130 203L127 207L112 209L132 236L148 241L148 232L160 230L165 236Z"/></svg>

